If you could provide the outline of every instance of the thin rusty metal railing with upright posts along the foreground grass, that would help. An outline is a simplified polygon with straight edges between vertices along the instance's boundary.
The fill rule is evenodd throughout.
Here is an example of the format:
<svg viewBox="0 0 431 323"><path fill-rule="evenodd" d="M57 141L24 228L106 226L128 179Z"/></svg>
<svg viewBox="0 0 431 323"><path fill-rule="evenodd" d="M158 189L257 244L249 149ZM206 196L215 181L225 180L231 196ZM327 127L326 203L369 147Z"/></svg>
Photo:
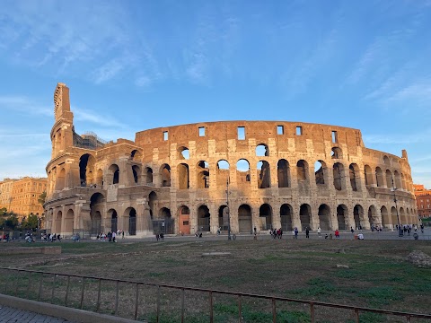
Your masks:
<svg viewBox="0 0 431 323"><path fill-rule="evenodd" d="M69 275L69 274L62 274L62 273L52 273L52 272L43 272L39 270L28 270L28 269L20 269L20 268L7 268L7 267L0 267L0 271L6 271L12 274L21 274L26 273L28 274L28 281L27 281L27 291L30 290L31 284L34 286L36 283L39 283L38 286L38 292L37 292L37 300L41 300L41 294L42 291L46 291L46 288L44 288L44 283L48 283L47 280L44 280L46 276L52 276L52 289L50 291L50 302L53 302L55 297L55 289L56 289L56 281L58 281L58 277L63 276L66 277L66 293L65 293L65 299L63 302L63 305L69 306L69 296L70 296L70 290L71 290L71 278L78 278L82 281L81 283L81 290L80 290L80 300L79 300L79 308L84 309L84 291L85 291L85 281L93 280L97 281L97 301L96 301L96 312L100 312L101 310L101 283L102 282L110 282L115 284L115 301L114 301L114 309L111 310L111 313L114 315L119 315L119 284L128 284L135 286L134 289L134 300L129 300L134 302L134 309L132 313L133 319L138 319L138 312L139 312L139 286L147 286L147 287L155 287L156 288L156 316L155 321L158 323L161 318L161 302L162 302L162 294L161 294L161 288L166 288L170 290L177 290L180 291L180 321L185 322L185 292L191 291L191 292L204 292L207 294L207 315L209 317L209 321L211 323L214 322L214 296L216 294L219 295L229 295L234 296L237 298L237 306L238 306L238 322L242 322L242 300L244 298L252 298L252 299L259 299L259 300L265 300L270 302L271 311L272 311L272 322L277 322L277 302L295 302L303 305L307 305L309 308L310 313L310 320L312 323L316 322L316 308L317 307L324 307L324 308L330 308L330 309L342 309L342 310L350 310L352 311L354 315L354 321L356 323L359 323L360 314L361 313L375 313L375 314L383 314L386 316L397 316L402 317L406 320L406 322L410 322L411 319L430 319L431 320L431 314L420 314L420 313L409 313L409 312L402 312L397 310L378 310L378 309L371 309L371 308L365 308L365 307L357 307L357 306L350 306L350 305L341 305L341 304L334 304L329 302L323 302L323 301L305 301L305 300L298 300L298 299L291 299L286 297L278 297L278 296L268 296L268 295L259 295L254 293L247 293L247 292L229 292L229 291L219 291L219 290L210 290L210 289L204 289L204 288L194 288L194 287L184 287L184 286L178 286L178 285L171 285L171 284L153 284L153 283L145 283L145 282L137 282L133 280L127 280L127 279L115 279L115 278L103 278L98 276L88 276L88 275ZM39 275L39 282L34 275ZM12 279L12 281L14 281ZM18 283L13 284L10 286L9 279L4 280L4 293L11 292L13 295L18 294L19 285ZM9 288L11 287L11 288ZM124 301L124 300L123 300Z"/></svg>

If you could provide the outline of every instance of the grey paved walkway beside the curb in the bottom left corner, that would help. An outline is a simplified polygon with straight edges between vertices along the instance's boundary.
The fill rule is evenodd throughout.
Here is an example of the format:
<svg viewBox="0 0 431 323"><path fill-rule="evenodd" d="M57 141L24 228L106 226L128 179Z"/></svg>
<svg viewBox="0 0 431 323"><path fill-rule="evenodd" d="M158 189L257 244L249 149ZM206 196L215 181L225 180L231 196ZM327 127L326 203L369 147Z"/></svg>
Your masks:
<svg viewBox="0 0 431 323"><path fill-rule="evenodd" d="M66 319L58 319L41 315L28 310L17 310L0 305L0 323L77 323Z"/></svg>

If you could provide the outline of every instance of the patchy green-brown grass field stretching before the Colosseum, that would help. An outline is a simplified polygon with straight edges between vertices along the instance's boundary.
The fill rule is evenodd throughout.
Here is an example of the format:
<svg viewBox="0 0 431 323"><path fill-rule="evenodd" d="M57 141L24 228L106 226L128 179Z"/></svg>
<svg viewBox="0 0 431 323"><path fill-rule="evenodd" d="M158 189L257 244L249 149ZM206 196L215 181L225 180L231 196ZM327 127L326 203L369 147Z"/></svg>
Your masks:
<svg viewBox="0 0 431 323"><path fill-rule="evenodd" d="M427 241L190 240L116 244L81 241L55 245L62 246L62 255L3 256L2 266L431 314L431 268L414 266L406 260L413 250L431 255L431 243ZM203 257L207 252L230 255ZM113 289L112 286L106 288ZM79 287L76 292L79 293ZM155 291L148 293L154 294ZM186 299L195 298L189 296ZM189 307L205 308L204 298L189 301ZM174 296L163 304L170 314L163 312L162 322L172 322L172 317L180 315L173 304L179 299L180 295ZM199 301L203 304L198 304ZM252 302L244 300L244 321L270 321L270 306L262 310L267 305ZM278 322L310 321L303 305L286 309L281 306L277 310ZM237 303L225 297L216 301L215 311L217 322L231 321L230 317L238 312ZM321 310L318 316L319 322L353 321L347 314L337 314L337 310ZM147 311L141 319L154 321L154 312ZM207 318L191 310L188 321L204 322ZM384 322L386 319L374 314L361 317L361 321Z"/></svg>

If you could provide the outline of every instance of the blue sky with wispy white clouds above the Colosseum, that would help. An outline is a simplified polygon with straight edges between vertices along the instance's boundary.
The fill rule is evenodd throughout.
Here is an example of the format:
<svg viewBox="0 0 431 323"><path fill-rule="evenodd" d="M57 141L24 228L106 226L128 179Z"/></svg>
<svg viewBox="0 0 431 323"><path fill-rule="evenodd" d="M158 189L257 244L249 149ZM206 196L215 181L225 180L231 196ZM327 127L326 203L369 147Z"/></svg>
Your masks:
<svg viewBox="0 0 431 323"><path fill-rule="evenodd" d="M2 1L0 179L46 176L57 82L75 130L286 120L407 149L431 188L431 1Z"/></svg>

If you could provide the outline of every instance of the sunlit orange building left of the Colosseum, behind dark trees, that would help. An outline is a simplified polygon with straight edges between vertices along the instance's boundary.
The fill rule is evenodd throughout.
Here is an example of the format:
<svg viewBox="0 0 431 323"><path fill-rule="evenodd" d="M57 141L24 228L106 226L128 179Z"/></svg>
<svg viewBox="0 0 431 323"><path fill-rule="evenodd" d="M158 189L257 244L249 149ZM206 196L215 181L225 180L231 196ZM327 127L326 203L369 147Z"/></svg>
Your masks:
<svg viewBox="0 0 431 323"><path fill-rule="evenodd" d="M29 214L41 215L39 198L47 191L47 184L47 178L4 179L0 182L0 207L18 214L20 219Z"/></svg>

